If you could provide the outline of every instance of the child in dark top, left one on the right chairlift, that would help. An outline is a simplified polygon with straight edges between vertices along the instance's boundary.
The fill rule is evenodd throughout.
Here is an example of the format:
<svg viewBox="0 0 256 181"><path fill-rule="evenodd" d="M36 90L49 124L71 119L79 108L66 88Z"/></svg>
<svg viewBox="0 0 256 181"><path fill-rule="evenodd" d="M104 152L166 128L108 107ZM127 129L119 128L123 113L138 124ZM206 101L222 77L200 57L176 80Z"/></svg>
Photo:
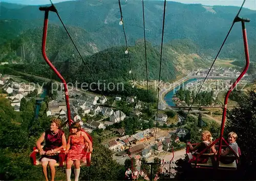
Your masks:
<svg viewBox="0 0 256 181"><path fill-rule="evenodd" d="M208 131L204 131L201 135L202 142L199 143L197 146L193 147L190 143L187 143L191 151L196 151L197 153L200 153L203 151L206 147L208 147L212 143L211 134ZM212 151L213 153L216 153L215 145L211 146L208 150L206 150L204 153L210 153ZM188 163L194 163L196 162L197 155L193 154L193 159L190 159ZM200 156L197 159L197 163L206 163L208 161L208 157Z"/></svg>

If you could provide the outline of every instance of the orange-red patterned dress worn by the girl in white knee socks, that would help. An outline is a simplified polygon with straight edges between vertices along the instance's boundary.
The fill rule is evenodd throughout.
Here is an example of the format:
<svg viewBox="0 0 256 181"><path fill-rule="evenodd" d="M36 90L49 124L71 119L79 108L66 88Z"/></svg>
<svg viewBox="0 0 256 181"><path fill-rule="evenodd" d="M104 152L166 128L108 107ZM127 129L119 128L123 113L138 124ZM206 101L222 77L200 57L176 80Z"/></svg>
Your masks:
<svg viewBox="0 0 256 181"><path fill-rule="evenodd" d="M86 162L86 151L84 151L84 147L86 147L86 144L84 141L85 140L82 136L82 133L80 133L79 137L76 137L76 135L71 135L71 146L68 152L69 160L81 160L82 162Z"/></svg>

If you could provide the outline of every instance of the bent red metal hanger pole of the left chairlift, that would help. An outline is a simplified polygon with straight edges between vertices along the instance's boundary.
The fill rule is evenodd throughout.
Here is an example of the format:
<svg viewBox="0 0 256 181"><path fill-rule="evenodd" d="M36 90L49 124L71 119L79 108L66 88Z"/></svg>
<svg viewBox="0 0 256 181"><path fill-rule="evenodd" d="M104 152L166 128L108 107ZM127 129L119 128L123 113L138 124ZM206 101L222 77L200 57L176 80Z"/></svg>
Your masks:
<svg viewBox="0 0 256 181"><path fill-rule="evenodd" d="M51 7L50 7L51 8ZM71 111L70 111L70 105L69 105L69 92L68 92L68 86L66 84L65 79L62 77L62 75L58 72L58 70L54 67L54 65L51 63L51 61L48 59L46 55L46 40L47 40L47 29L48 29L48 15L49 15L49 9L44 9L45 11L45 21L44 21L44 32L42 35L42 56L44 57L46 63L53 69L53 71L57 74L59 79L64 85L65 90L65 99L66 99L66 105L67 105L67 113L68 113L68 120L69 120L69 127L71 125Z"/></svg>

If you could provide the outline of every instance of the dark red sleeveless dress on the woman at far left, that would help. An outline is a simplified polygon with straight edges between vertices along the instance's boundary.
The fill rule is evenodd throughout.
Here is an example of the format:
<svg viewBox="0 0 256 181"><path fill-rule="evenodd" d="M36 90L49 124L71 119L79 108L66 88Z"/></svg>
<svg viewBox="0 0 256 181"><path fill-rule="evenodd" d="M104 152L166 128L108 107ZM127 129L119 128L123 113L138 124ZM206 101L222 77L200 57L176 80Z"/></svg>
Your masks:
<svg viewBox="0 0 256 181"><path fill-rule="evenodd" d="M62 146L62 135L64 134L64 132L62 132L61 130L58 131L58 133L56 135L53 135L51 130L47 130L46 131L46 135L45 135L45 146L44 146L44 151L49 151L55 148L58 148L60 146ZM44 154L42 158L48 158L48 159L54 159L56 161L59 160L58 154L54 155L54 156L48 156L46 154ZM40 159L40 160L41 160Z"/></svg>

